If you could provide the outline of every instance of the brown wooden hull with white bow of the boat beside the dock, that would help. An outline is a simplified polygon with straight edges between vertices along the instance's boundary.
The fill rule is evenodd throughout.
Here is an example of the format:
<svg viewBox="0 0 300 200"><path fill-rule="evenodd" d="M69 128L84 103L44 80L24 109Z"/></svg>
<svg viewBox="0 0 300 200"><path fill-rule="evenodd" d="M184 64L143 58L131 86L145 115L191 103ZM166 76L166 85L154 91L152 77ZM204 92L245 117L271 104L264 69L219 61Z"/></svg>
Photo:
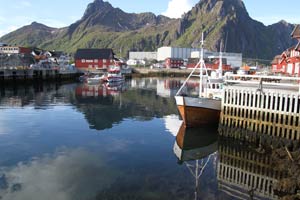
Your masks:
<svg viewBox="0 0 300 200"><path fill-rule="evenodd" d="M221 112L221 100L175 96L177 108L186 127L217 125Z"/></svg>

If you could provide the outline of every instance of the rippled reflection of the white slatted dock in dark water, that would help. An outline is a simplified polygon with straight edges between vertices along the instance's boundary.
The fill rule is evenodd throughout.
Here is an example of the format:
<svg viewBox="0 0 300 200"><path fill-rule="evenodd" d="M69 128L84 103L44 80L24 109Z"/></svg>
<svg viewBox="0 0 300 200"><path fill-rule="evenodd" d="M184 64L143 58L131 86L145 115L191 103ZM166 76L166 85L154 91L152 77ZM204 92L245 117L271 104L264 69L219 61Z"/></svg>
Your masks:
<svg viewBox="0 0 300 200"><path fill-rule="evenodd" d="M219 142L219 189L237 199L278 199L274 185L284 173L274 170L271 156L240 142Z"/></svg>

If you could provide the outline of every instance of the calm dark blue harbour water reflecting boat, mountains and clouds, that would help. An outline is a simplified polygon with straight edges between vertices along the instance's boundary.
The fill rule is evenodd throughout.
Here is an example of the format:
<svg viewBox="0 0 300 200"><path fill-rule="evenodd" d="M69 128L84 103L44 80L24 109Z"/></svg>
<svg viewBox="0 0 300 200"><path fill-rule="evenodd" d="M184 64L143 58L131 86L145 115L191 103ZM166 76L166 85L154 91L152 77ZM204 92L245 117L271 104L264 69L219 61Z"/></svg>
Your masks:
<svg viewBox="0 0 300 200"><path fill-rule="evenodd" d="M0 199L279 199L268 152L182 128L182 82L0 86Z"/></svg>

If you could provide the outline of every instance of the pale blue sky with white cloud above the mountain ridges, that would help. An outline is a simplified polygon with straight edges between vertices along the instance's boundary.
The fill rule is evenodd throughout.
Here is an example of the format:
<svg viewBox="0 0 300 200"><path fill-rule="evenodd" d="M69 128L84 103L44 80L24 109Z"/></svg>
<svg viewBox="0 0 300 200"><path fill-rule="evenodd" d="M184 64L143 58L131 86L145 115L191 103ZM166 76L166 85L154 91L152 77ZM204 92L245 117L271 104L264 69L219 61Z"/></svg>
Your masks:
<svg viewBox="0 0 300 200"><path fill-rule="evenodd" d="M36 21L64 27L80 19L93 0L0 0L0 36ZM106 0L125 12L153 12L179 17L199 0ZM299 0L243 0L250 16L265 25L282 19L300 24Z"/></svg>

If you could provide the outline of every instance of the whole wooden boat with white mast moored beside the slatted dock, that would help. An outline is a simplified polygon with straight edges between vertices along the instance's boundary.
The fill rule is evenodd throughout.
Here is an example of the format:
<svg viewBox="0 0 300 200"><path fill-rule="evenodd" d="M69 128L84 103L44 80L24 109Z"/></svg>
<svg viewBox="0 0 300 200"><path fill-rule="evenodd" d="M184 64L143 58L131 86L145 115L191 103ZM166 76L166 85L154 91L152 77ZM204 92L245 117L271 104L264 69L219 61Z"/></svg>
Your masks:
<svg viewBox="0 0 300 200"><path fill-rule="evenodd" d="M222 95L222 63L221 74L217 78L208 76L203 59L203 34L201 41L201 57L188 78L175 95L177 108L186 127L198 127L203 125L216 125L219 122ZM221 57L221 56L220 56ZM196 70L199 75L194 75ZM192 76L199 78L199 96L187 96L182 90Z"/></svg>

